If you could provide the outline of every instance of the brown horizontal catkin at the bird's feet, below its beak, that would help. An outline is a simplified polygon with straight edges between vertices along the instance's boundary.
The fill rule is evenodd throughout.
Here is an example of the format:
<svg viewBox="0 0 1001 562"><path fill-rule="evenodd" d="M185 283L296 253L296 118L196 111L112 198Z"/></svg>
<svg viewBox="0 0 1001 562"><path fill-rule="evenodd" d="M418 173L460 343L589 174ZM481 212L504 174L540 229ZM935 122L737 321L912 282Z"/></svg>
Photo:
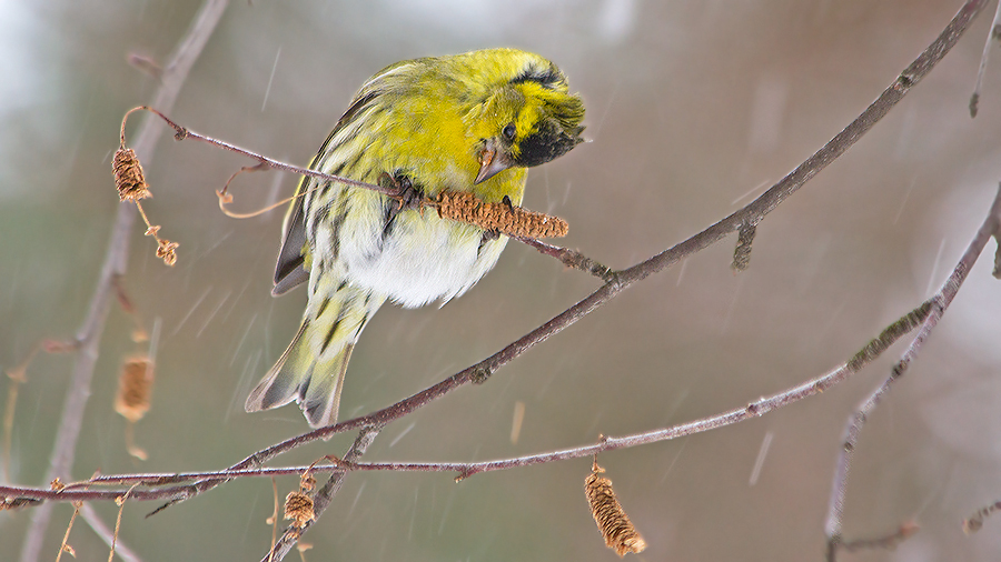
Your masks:
<svg viewBox="0 0 1001 562"><path fill-rule="evenodd" d="M443 191L437 200L438 215L476 224L513 237L559 238L569 225L558 217L529 211L505 203L486 203L469 192Z"/></svg>

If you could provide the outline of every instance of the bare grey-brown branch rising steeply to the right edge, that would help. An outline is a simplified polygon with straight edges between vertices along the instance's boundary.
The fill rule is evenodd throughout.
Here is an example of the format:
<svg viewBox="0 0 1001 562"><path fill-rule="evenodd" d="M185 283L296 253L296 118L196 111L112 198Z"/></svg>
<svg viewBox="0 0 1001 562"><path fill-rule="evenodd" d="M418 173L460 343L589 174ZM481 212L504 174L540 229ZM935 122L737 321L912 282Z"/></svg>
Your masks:
<svg viewBox="0 0 1001 562"><path fill-rule="evenodd" d="M833 562L836 559L839 545L842 545L842 519L844 518L844 496L848 491L848 476L854 456L855 445L862 433L869 417L875 411L880 402L890 393L890 388L906 372L911 362L918 357L918 352L931 335L932 330L938 325L939 320L949 308L955 293L959 291L967 274L973 269L977 258L983 252L988 240L997 237L1001 232L1001 185L998 188L998 194L988 212L987 218L981 224L967 251L963 253L952 274L945 280L942 289L935 293L929 301L931 310L928 318L921 323L921 329L914 335L914 339L908 345L908 349L901 355L900 361L893 365L890 377L880 384L876 390L862 402L852 417L849 418L844 430L844 441L842 442L841 453L838 455L838 469L834 472L834 482L831 489L831 501L827 506L827 521L824 525L827 539L826 560Z"/></svg>

